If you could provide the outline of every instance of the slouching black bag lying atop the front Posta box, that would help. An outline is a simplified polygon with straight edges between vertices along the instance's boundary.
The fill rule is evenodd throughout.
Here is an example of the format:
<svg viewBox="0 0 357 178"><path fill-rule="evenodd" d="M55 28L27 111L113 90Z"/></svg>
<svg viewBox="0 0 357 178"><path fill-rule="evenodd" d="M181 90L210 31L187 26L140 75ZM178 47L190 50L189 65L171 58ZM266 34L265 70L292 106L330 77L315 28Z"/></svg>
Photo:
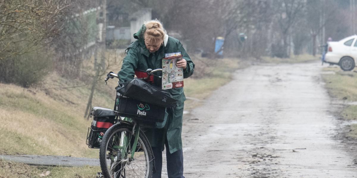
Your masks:
<svg viewBox="0 0 357 178"><path fill-rule="evenodd" d="M129 98L166 108L174 108L177 103L176 99L171 98L169 92L138 78L134 78L124 87L117 87L116 91Z"/></svg>

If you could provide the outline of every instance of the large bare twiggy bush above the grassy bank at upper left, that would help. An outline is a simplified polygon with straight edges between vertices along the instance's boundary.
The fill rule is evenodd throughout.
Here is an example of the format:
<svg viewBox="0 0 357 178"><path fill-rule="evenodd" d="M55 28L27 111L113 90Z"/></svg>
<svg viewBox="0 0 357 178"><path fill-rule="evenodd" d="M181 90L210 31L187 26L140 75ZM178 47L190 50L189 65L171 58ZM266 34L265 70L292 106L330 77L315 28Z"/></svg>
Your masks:
<svg viewBox="0 0 357 178"><path fill-rule="evenodd" d="M41 61L38 60L40 56L35 54L47 52L52 40L63 28L63 15L68 6L66 0L0 2L0 82L22 83L23 86L31 84L32 80L25 83L14 81L20 75L15 73L19 71L19 65L31 70L29 67L32 64ZM48 63L41 64L41 68L49 67L44 66Z"/></svg>

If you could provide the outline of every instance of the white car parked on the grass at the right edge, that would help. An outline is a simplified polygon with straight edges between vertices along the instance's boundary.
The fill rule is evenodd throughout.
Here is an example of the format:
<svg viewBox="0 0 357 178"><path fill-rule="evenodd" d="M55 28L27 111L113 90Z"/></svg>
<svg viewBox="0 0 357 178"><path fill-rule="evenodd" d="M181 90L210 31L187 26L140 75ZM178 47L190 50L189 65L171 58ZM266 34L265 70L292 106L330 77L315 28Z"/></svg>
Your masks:
<svg viewBox="0 0 357 178"><path fill-rule="evenodd" d="M342 70L352 70L357 59L357 35L343 38L340 41L327 42L324 62L336 64Z"/></svg>

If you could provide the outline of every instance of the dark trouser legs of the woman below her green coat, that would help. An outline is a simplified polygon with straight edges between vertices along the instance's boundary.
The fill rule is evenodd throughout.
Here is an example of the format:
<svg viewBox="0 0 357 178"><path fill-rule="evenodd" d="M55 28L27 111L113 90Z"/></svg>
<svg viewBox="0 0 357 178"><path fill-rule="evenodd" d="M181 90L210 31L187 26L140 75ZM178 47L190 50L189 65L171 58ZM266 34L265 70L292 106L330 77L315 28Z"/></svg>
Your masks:
<svg viewBox="0 0 357 178"><path fill-rule="evenodd" d="M183 154L182 150L170 153L169 146L166 142L166 161L167 161L167 176L169 178L185 178L183 177ZM152 174L152 178L161 178L162 169L162 151L160 147L151 147L155 157L156 172Z"/></svg>

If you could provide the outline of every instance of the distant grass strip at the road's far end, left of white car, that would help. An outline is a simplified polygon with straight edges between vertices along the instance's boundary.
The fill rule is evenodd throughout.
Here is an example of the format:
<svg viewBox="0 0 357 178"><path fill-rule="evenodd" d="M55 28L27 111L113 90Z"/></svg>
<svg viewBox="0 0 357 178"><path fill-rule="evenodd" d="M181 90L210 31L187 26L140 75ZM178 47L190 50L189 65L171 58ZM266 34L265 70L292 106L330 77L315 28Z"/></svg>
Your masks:
<svg viewBox="0 0 357 178"><path fill-rule="evenodd" d="M301 54L301 55L292 55L290 58L277 58L277 57L261 57L262 62L265 63L305 63L305 62L312 62L312 61L319 61L321 55L316 55L315 57L311 54Z"/></svg>

